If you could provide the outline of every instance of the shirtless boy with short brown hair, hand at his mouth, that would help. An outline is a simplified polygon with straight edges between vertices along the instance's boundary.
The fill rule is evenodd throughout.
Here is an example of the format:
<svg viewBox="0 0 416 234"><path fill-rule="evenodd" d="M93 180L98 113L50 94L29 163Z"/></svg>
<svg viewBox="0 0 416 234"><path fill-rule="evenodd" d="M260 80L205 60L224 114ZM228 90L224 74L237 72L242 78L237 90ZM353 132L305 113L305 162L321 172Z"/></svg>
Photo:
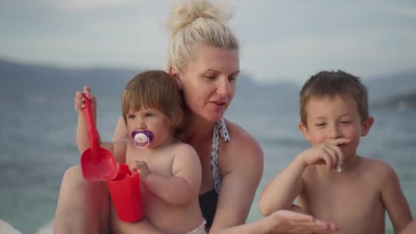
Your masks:
<svg viewBox="0 0 416 234"><path fill-rule="evenodd" d="M339 233L385 233L385 210L396 232L411 211L393 168L356 155L369 133L367 89L341 70L311 77L300 92L300 131L312 148L300 153L265 187L259 209L268 216L295 209L339 226ZM292 205L298 197L300 207Z"/></svg>

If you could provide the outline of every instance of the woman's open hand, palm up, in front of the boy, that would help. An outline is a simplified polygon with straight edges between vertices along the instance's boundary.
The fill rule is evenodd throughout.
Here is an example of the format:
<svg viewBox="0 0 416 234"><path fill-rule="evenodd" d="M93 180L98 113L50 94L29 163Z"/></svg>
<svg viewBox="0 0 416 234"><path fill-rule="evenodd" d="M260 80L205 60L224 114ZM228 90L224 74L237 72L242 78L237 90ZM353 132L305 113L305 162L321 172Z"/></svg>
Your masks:
<svg viewBox="0 0 416 234"><path fill-rule="evenodd" d="M330 222L313 218L303 213L279 210L264 218L268 221L269 232L283 233L313 233L315 231L339 231L338 227Z"/></svg>

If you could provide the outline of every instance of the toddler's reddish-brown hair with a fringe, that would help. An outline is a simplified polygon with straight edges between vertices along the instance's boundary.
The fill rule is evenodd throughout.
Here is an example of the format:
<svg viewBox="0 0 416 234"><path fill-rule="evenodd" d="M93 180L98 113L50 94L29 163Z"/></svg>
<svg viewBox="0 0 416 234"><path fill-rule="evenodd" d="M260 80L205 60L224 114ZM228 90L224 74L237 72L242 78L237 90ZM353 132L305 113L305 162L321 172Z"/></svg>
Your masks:
<svg viewBox="0 0 416 234"><path fill-rule="evenodd" d="M146 70L133 77L122 93L121 102L126 124L129 111L154 108L166 116L174 137L183 137L183 96L174 78L163 70Z"/></svg>

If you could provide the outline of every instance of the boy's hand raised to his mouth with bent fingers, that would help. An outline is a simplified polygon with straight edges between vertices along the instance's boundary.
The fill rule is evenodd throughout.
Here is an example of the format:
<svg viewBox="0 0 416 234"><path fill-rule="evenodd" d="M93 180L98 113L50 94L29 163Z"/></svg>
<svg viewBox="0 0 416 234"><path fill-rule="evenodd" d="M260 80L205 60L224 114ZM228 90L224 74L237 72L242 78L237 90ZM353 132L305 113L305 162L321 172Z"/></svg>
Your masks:
<svg viewBox="0 0 416 234"><path fill-rule="evenodd" d="M306 151L303 151L300 155L304 159L304 163L306 165L326 164L328 169L331 170L335 167L335 165L343 164L344 156L339 146L349 142L349 139L339 138L331 142L322 143L309 148Z"/></svg>

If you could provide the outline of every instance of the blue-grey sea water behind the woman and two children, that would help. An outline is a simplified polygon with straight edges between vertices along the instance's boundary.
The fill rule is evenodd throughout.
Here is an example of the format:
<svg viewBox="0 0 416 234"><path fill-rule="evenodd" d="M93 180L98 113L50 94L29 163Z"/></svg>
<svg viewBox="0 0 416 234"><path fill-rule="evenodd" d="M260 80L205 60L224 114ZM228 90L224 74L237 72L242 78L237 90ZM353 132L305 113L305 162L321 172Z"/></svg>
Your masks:
<svg viewBox="0 0 416 234"><path fill-rule="evenodd" d="M98 128L101 138L110 140L120 107L118 100L99 100ZM79 162L73 97L0 104L0 219L23 233L36 233L53 219L64 171ZM393 166L415 215L416 109L372 109L371 114L376 121L362 139L359 154ZM239 99L226 117L250 131L265 153L263 178L248 217L257 220L261 218L257 199L264 185L309 144L298 131L298 110L293 105ZM391 229L388 218L386 226Z"/></svg>

